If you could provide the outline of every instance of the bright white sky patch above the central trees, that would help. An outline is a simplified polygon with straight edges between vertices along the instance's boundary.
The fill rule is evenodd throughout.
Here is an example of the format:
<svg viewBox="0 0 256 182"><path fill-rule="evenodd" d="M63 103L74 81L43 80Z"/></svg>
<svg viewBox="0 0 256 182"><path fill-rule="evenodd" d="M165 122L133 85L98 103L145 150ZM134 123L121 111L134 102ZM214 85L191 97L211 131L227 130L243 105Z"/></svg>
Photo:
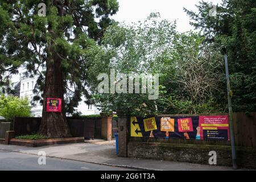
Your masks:
<svg viewBox="0 0 256 182"><path fill-rule="evenodd" d="M144 22L150 13L159 12L162 19L177 20L177 30L180 32L193 30L189 25L189 16L183 7L196 11L196 6L201 0L118 0L119 11L112 16L118 22ZM220 5L221 0L204 0Z"/></svg>

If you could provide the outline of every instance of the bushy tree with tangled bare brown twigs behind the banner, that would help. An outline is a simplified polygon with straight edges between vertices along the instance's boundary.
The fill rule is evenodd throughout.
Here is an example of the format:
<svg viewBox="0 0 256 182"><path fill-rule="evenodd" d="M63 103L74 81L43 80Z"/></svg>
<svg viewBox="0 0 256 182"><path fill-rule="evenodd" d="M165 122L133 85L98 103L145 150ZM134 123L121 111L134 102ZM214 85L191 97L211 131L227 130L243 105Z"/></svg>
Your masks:
<svg viewBox="0 0 256 182"><path fill-rule="evenodd" d="M212 113L222 111L216 93L222 92L225 77L218 48L205 45L193 32L177 34L170 59L163 63L163 84L159 110L165 113Z"/></svg>

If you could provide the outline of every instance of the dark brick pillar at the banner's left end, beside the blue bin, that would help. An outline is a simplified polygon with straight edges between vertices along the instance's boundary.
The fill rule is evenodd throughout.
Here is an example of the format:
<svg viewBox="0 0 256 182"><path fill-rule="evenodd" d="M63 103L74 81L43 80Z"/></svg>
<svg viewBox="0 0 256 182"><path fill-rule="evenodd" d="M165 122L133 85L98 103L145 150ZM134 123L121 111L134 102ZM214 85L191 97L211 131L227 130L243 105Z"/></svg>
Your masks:
<svg viewBox="0 0 256 182"><path fill-rule="evenodd" d="M122 111L117 112L118 115L118 156L127 158L127 116Z"/></svg>

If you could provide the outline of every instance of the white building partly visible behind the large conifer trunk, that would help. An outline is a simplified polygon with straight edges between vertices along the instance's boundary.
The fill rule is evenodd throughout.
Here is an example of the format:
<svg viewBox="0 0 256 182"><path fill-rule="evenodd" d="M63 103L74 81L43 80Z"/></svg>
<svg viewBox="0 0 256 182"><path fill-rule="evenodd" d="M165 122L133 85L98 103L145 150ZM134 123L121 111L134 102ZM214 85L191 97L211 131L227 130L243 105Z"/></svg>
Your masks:
<svg viewBox="0 0 256 182"><path fill-rule="evenodd" d="M20 98L27 97L29 101L35 96L33 93L33 89L36 84L37 77L20 77ZM77 111L80 111L82 115L90 115L90 114L100 114L100 110L96 108L94 105L86 105L84 103L85 98L82 98L82 101L79 103L79 106L76 108ZM39 103L36 106L31 108L31 113L35 117L42 117L43 106Z"/></svg>

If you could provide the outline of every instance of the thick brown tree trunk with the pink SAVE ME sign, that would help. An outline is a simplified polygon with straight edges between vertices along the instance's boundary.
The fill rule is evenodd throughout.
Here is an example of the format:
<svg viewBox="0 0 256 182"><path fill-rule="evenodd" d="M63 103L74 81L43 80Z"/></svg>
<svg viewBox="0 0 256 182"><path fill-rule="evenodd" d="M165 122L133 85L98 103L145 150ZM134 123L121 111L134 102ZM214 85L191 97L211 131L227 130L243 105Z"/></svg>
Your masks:
<svg viewBox="0 0 256 182"><path fill-rule="evenodd" d="M39 134L47 135L50 138L71 137L64 110L63 73L61 72L60 64L61 59L58 56L54 56L54 60L47 60L46 63L47 69L44 85L43 114ZM63 104L61 113L46 111L47 98L62 99Z"/></svg>

